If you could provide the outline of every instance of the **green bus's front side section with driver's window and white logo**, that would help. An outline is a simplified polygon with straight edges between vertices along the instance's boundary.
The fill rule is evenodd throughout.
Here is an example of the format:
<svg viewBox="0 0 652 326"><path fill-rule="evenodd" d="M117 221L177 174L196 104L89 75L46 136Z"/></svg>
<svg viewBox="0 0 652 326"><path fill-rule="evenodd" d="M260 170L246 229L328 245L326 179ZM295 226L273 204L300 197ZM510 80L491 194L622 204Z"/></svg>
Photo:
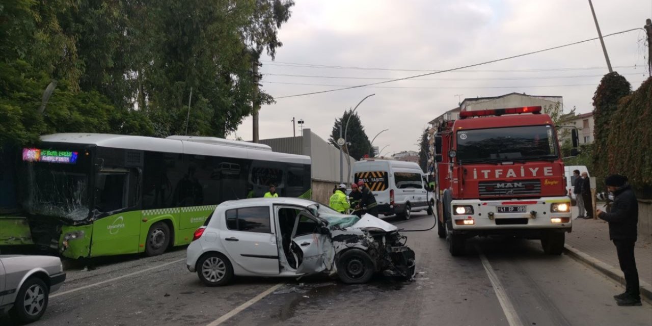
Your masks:
<svg viewBox="0 0 652 326"><path fill-rule="evenodd" d="M102 168L95 175L91 257L138 252L140 170Z"/></svg>

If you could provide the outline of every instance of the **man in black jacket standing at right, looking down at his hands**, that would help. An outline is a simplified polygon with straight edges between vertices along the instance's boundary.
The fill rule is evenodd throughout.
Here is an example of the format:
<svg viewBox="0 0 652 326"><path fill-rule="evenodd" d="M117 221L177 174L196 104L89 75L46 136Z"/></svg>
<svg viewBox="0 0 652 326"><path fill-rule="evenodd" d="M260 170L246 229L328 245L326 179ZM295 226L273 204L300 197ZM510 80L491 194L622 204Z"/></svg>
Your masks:
<svg viewBox="0 0 652 326"><path fill-rule="evenodd" d="M611 211L604 213L598 209L595 214L609 222L609 239L614 241L620 269L625 274L625 293L614 295L619 306L640 306L641 296L638 284L638 271L634 259L636 243L636 224L638 224L638 201L627 184L627 177L610 175L604 180L609 192L614 193Z"/></svg>

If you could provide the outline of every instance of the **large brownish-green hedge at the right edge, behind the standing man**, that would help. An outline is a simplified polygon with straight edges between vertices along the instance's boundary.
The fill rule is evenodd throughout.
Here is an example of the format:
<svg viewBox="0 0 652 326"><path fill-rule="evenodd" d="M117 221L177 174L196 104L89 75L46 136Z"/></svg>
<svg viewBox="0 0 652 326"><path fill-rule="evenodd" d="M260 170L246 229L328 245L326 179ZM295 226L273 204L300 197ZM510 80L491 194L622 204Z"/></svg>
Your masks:
<svg viewBox="0 0 652 326"><path fill-rule="evenodd" d="M639 196L652 198L652 78L619 100L608 130L607 172L627 175Z"/></svg>

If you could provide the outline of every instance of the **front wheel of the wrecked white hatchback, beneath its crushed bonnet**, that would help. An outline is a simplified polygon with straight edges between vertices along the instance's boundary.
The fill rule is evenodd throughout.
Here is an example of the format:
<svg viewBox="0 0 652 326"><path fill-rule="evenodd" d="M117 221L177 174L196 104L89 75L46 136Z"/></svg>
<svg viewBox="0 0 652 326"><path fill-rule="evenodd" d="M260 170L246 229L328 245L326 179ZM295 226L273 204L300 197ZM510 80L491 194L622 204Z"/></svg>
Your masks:
<svg viewBox="0 0 652 326"><path fill-rule="evenodd" d="M374 276L374 261L360 249L350 249L337 259L337 274L346 284L363 284Z"/></svg>

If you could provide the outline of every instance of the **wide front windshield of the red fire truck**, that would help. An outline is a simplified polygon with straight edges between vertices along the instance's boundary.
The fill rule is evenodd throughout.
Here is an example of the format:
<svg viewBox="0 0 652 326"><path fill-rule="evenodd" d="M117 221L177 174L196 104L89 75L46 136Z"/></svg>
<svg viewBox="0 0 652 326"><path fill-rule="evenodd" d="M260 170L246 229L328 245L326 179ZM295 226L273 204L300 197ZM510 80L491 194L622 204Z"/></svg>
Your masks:
<svg viewBox="0 0 652 326"><path fill-rule="evenodd" d="M511 126L458 130L457 160L462 164L554 160L559 156L552 126Z"/></svg>

